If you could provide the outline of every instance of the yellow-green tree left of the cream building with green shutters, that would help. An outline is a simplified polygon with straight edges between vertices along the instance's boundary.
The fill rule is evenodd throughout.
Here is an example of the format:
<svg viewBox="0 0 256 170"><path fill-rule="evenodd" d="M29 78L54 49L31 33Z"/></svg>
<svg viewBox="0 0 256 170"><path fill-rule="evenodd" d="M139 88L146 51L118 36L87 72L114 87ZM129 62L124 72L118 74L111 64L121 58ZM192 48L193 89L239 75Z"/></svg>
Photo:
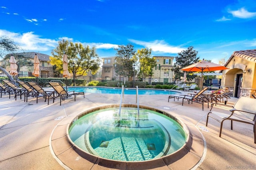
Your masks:
<svg viewBox="0 0 256 170"><path fill-rule="evenodd" d="M142 48L138 49L137 53L134 55L135 61L138 61L138 68L140 68L139 75L144 81L148 75L153 74L153 68L156 65L156 61L151 56L152 49Z"/></svg>

